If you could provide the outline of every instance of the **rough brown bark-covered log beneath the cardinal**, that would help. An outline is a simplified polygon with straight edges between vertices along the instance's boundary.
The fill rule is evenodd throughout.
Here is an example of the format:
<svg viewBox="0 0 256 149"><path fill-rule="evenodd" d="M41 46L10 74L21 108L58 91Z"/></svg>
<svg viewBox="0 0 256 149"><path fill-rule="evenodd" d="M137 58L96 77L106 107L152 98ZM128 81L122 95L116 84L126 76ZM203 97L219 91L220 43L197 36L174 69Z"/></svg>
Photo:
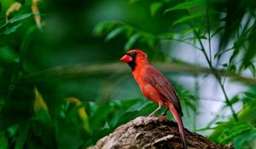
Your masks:
<svg viewBox="0 0 256 149"><path fill-rule="evenodd" d="M202 135L185 129L189 149L233 149L232 145L220 146ZM98 140L88 149L181 149L177 123L166 117L137 117L115 129L112 134Z"/></svg>

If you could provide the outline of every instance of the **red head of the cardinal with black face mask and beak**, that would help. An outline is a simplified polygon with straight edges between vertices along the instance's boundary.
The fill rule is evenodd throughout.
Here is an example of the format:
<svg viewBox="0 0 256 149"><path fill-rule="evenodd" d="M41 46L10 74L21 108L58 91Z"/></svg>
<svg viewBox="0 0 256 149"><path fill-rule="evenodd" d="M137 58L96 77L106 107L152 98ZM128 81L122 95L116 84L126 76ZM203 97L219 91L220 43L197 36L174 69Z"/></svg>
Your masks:
<svg viewBox="0 0 256 149"><path fill-rule="evenodd" d="M131 66L131 70L134 71L136 66L149 64L148 56L140 49L131 49L120 59Z"/></svg>

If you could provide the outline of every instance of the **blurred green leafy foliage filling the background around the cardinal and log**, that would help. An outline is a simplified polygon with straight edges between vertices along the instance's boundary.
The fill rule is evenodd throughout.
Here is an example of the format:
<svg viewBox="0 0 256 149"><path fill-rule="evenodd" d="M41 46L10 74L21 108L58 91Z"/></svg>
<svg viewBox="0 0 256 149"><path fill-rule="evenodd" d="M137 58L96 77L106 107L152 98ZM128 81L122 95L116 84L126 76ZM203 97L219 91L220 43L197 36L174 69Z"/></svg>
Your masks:
<svg viewBox="0 0 256 149"><path fill-rule="evenodd" d="M249 70L255 76L254 0L3 0L0 6L0 149L84 148L152 112L157 105L143 99L125 68L114 65L128 49L144 49L152 61L187 65L170 60L160 43L188 43L205 54L213 72ZM215 76L224 86L225 78ZM192 128L201 99L170 79ZM214 118L204 128L213 129L209 138L236 148L256 146L255 99L253 87L226 99L223 110L237 103L242 108L227 122Z"/></svg>

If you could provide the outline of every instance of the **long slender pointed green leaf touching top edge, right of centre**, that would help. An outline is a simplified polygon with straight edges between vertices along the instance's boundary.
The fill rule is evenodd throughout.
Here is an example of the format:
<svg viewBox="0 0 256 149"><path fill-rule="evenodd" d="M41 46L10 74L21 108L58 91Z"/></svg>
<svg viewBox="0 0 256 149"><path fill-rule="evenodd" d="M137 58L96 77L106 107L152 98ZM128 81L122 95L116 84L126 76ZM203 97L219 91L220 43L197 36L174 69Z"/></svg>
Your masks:
<svg viewBox="0 0 256 149"><path fill-rule="evenodd" d="M174 7L166 9L164 14L166 14L170 11L173 11L173 10L191 9L191 8L196 7L196 6L200 6L203 3L205 3L205 1L203 1L203 0L194 0L194 1L187 1L187 2L184 2L184 3L179 3Z"/></svg>

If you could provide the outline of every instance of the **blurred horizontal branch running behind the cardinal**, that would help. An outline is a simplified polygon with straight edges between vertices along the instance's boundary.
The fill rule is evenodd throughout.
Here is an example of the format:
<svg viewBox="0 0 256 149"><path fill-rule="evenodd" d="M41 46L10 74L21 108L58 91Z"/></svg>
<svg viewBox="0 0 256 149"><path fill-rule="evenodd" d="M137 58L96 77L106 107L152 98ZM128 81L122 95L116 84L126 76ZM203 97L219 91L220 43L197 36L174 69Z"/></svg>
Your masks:
<svg viewBox="0 0 256 149"><path fill-rule="evenodd" d="M206 67L193 66L189 64L174 64L174 63L153 63L161 72L177 72L186 75L205 75L213 74L212 70ZM256 79L253 77L244 77L237 73L227 73L225 70L216 70L221 77L230 77L233 80L255 85ZM131 73L128 66L121 63L108 64L78 64L75 66L56 66L46 69L41 72L33 72L21 77L22 82L42 82L51 78L64 77L84 77L96 74L110 73Z"/></svg>

